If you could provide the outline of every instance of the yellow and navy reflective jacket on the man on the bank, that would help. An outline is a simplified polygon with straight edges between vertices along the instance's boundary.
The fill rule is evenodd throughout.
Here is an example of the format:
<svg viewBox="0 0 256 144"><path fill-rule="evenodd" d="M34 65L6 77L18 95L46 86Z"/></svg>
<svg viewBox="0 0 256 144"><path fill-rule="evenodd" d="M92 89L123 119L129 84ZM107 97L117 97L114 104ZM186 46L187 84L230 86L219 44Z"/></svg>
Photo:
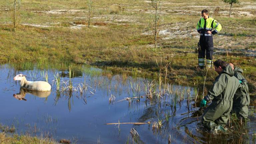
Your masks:
<svg viewBox="0 0 256 144"><path fill-rule="evenodd" d="M212 31L212 34L216 34L222 29L222 27L219 22L208 16L208 19L205 20L204 18L201 18L198 21L196 29L198 32L201 31L201 35L204 35L206 34L206 31L212 31L213 29L215 30Z"/></svg>

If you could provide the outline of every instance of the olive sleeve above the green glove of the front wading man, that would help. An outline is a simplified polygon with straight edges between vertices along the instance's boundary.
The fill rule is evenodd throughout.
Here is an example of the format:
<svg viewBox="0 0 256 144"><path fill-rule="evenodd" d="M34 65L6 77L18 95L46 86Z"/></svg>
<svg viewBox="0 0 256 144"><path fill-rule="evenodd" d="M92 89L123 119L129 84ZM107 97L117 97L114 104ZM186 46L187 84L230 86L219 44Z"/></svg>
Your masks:
<svg viewBox="0 0 256 144"><path fill-rule="evenodd" d="M213 84L213 88L208 92L208 94L204 97L206 101L211 101L214 97L219 96L225 89L226 85L221 81L217 80Z"/></svg>

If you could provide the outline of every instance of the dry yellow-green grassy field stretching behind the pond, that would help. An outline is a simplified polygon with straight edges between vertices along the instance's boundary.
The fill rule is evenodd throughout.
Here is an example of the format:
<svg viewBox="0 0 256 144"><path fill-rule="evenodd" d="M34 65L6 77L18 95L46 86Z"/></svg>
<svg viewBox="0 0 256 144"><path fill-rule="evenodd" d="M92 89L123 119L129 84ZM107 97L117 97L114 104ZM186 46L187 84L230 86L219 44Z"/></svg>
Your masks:
<svg viewBox="0 0 256 144"><path fill-rule="evenodd" d="M256 18L237 15L239 9L233 9L232 17L229 18L228 4L221 1L203 1L202 3L204 2L212 6L208 9L209 15L218 20L223 27L222 31L214 36L215 48L233 50L215 54L214 60L231 61L236 66L246 69L244 75L250 83L250 92L255 92L256 59L244 57L240 50L255 49L256 32L253 29L255 29ZM250 6L248 3L253 3L253 1L243 1L234 8L248 12L246 8L243 8ZM198 6L198 3L196 1L190 3L178 0L163 1L161 9L165 12L163 29L175 27L182 34L186 33L183 32L184 30L195 31L201 8L193 6ZM216 15L213 14L213 10L217 6L220 6L220 10ZM5 9L5 3L1 3L0 8ZM184 12L174 11L177 9L184 10ZM46 13L49 10L64 11L61 14ZM23 69L31 69L26 63L37 63L41 68L47 68L52 63L56 63L54 65L56 68L63 65L67 68L70 63L86 63L108 66L108 70L118 73L158 77L160 68L156 60L162 59L166 63L168 57L168 62L171 62L167 74L168 82L193 85L198 81L199 86L203 85L206 70L196 69L197 54L192 53L198 41L197 37L184 38L178 35L172 39L164 39L166 36L159 35L159 48L153 50L151 46L153 37L142 34L147 32L150 10L152 10L149 3L139 0L95 1L93 2L92 23L98 27L87 28L85 26L79 30L71 29L74 22L81 21L86 24L86 10L86 3L83 0L23 0L21 23L51 27L20 25L16 34L12 32L12 25L8 24L11 21L11 11L1 10L0 63L23 64L21 66ZM99 72L95 74L98 75ZM208 75L206 88L210 88L217 73L210 70Z"/></svg>

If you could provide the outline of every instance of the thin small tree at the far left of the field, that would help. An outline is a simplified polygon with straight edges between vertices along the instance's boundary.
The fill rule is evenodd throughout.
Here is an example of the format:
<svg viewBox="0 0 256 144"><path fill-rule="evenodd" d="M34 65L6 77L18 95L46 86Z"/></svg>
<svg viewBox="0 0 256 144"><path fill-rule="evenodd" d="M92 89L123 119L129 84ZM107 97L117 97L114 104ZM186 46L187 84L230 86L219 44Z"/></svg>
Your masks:
<svg viewBox="0 0 256 144"><path fill-rule="evenodd" d="M11 15L12 23L13 23L13 30L16 32L16 28L19 25L20 22L20 7L21 7L21 0L13 0L12 4L9 4L8 1L6 1L7 6L10 11L13 11Z"/></svg>

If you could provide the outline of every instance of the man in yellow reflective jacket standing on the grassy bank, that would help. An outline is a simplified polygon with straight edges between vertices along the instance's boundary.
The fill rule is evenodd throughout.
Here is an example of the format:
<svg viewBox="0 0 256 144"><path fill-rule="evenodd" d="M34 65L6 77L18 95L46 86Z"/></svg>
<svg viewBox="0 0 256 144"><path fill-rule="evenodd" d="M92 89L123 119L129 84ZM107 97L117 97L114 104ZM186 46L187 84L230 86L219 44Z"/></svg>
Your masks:
<svg viewBox="0 0 256 144"><path fill-rule="evenodd" d="M198 66L203 69L205 51L206 51L206 66L212 68L212 55L213 55L213 38L212 35L218 33L221 30L221 25L215 19L208 16L206 9L201 12L202 18L197 23L197 32L200 33L199 45L201 50L198 51ZM215 30L213 30L215 29ZM212 31L213 30L213 31Z"/></svg>

